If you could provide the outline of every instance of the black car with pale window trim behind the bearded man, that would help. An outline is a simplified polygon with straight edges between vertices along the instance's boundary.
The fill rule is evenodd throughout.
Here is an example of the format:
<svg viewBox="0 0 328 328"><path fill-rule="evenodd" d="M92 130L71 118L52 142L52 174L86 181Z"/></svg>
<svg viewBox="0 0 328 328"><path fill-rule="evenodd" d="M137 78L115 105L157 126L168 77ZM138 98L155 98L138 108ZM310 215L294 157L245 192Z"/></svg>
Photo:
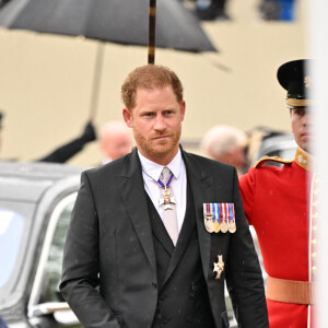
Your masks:
<svg viewBox="0 0 328 328"><path fill-rule="evenodd" d="M57 292L81 172L0 162L0 317L10 328L82 327Z"/></svg>

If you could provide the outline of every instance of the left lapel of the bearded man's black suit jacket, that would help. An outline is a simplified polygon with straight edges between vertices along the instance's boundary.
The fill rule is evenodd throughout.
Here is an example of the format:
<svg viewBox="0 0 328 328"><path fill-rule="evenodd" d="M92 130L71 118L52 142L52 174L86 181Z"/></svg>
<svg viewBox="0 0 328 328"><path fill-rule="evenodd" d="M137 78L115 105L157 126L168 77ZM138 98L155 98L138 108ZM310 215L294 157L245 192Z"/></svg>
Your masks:
<svg viewBox="0 0 328 328"><path fill-rule="evenodd" d="M118 188L150 265L156 270L152 229L143 185L141 164L137 149L134 149L122 168Z"/></svg>

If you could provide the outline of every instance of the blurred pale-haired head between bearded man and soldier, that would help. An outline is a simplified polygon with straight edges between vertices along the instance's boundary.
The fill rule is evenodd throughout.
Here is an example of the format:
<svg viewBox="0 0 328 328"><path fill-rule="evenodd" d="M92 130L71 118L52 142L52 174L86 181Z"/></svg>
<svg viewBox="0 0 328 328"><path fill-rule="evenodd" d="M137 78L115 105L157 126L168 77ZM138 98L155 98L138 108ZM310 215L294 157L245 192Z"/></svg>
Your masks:
<svg viewBox="0 0 328 328"><path fill-rule="evenodd" d="M246 169L246 133L231 126L212 127L201 141L208 157L235 166L238 175Z"/></svg>

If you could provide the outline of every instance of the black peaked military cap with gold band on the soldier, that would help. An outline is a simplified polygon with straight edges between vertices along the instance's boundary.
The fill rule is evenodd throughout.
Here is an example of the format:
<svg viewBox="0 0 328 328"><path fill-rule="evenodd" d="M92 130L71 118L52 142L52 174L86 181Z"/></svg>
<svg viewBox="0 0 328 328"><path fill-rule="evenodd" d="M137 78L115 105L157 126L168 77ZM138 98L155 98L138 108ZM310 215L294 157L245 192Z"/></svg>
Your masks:
<svg viewBox="0 0 328 328"><path fill-rule="evenodd" d="M277 72L280 85L286 90L288 108L309 105L312 78L308 72L308 59L293 60L283 63Z"/></svg>

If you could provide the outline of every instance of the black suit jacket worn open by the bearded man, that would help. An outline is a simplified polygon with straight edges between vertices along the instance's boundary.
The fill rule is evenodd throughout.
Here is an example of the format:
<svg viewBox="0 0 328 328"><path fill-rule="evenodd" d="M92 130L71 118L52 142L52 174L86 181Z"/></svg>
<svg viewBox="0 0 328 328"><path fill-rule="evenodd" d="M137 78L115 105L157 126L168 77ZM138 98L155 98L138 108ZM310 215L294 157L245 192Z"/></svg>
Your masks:
<svg viewBox="0 0 328 328"><path fill-rule="evenodd" d="M263 281L236 171L181 152L194 195L202 270L216 328L225 326L224 279L239 327L268 327ZM202 204L208 202L235 204L234 234L206 231ZM225 263L221 279L212 272L218 255L223 255ZM169 274L168 271L166 279ZM60 290L84 327L151 327L157 303L156 260L137 150L82 174Z"/></svg>

